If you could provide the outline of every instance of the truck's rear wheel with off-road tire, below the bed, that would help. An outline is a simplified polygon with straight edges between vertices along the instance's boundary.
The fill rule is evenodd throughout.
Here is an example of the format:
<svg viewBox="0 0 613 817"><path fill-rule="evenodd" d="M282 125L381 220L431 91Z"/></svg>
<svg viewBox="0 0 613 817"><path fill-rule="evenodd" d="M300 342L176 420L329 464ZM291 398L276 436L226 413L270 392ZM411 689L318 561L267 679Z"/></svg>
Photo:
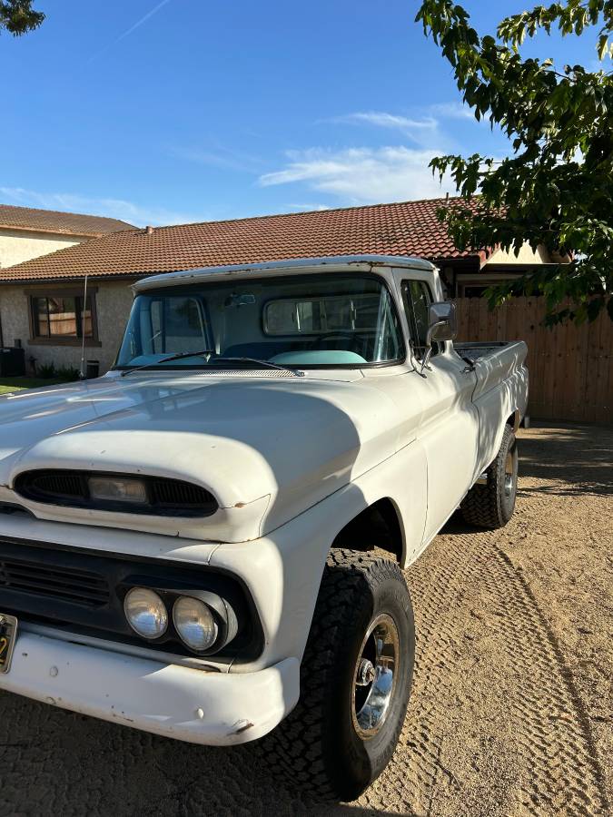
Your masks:
<svg viewBox="0 0 613 817"><path fill-rule="evenodd" d="M509 491L509 467L510 491ZM513 516L518 486L518 452L513 429L505 426L496 459L486 469L487 484L473 485L460 510L470 525L496 530Z"/></svg>

